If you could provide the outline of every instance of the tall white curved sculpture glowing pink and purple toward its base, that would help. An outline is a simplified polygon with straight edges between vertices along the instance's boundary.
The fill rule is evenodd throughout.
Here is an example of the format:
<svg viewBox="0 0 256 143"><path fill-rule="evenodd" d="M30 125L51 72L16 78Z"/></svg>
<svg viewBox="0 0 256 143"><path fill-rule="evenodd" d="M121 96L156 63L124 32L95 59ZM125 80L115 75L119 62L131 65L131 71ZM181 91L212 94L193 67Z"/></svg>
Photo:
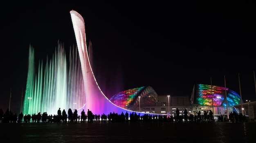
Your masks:
<svg viewBox="0 0 256 143"><path fill-rule="evenodd" d="M76 37L76 44L81 61L81 69L83 74L84 88L85 88L85 106L82 109L85 111L92 111L95 115L109 114L110 112L121 114L121 112L130 114L135 111L129 111L119 106L116 106L104 95L99 88L99 85L94 77L90 60L88 56L86 37L85 37L85 23L83 17L76 11L70 11L74 33Z"/></svg>

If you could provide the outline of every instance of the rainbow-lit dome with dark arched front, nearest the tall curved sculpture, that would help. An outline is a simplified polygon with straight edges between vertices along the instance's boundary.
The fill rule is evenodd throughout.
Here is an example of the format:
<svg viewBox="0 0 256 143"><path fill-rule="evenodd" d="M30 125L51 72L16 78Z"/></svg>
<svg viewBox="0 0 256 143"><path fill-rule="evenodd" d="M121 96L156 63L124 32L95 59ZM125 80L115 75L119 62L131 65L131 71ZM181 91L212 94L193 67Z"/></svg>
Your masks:
<svg viewBox="0 0 256 143"><path fill-rule="evenodd" d="M121 91L112 96L110 101L121 108L138 111L139 97L141 106L156 106L157 104L157 93L150 86Z"/></svg>

